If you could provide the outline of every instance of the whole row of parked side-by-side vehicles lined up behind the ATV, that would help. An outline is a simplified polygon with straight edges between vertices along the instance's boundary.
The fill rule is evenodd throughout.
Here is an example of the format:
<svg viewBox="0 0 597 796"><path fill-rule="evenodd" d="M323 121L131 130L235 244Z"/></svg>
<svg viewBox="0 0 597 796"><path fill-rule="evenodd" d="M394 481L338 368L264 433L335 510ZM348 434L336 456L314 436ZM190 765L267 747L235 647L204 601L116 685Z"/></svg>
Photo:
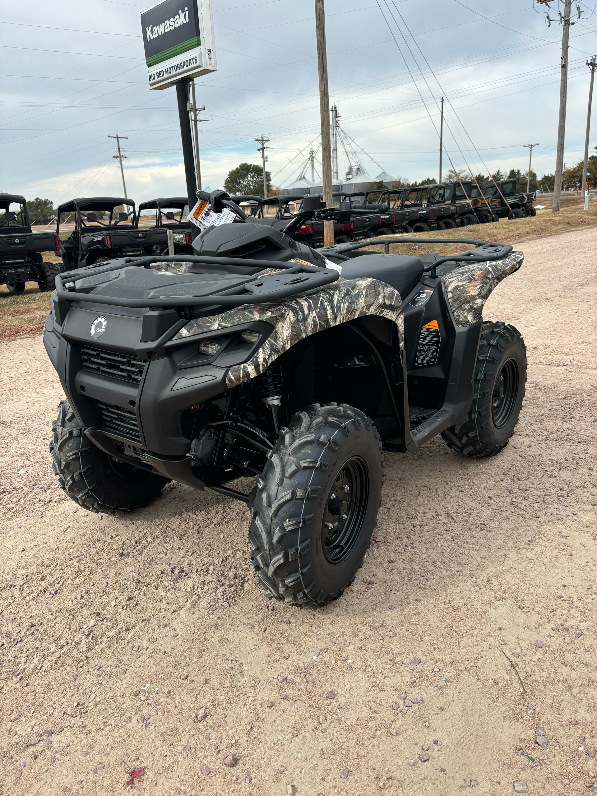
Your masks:
<svg viewBox="0 0 597 796"><path fill-rule="evenodd" d="M287 232L314 247L323 245L324 220L334 222L335 242L347 243L534 216L534 199L534 193L517 193L514 180L492 182L482 191L462 181L338 193L338 206L330 208L317 196L232 197L248 220L280 231L300 217L301 223ZM136 210L127 198L80 198L57 209L56 231L33 232L25 198L0 194L0 285L19 293L25 283L37 282L41 291L49 291L60 271L123 256L192 254L197 230L188 213L185 197L142 202ZM53 252L62 262L45 261L43 252Z"/></svg>

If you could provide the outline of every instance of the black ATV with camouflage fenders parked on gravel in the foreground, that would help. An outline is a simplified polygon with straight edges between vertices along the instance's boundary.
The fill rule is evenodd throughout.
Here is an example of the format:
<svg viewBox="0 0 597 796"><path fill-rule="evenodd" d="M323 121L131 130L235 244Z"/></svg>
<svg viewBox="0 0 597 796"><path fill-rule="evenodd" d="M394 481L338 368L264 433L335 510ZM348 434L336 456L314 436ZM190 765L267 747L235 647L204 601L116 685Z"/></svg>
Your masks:
<svg viewBox="0 0 597 796"><path fill-rule="evenodd" d="M201 232L196 256L57 277L53 470L95 512L137 509L172 480L244 501L259 583L326 605L369 547L383 451L439 434L473 457L508 443L525 345L482 309L523 256L479 240L423 259L313 249L247 223L224 192L197 195L236 222Z"/></svg>

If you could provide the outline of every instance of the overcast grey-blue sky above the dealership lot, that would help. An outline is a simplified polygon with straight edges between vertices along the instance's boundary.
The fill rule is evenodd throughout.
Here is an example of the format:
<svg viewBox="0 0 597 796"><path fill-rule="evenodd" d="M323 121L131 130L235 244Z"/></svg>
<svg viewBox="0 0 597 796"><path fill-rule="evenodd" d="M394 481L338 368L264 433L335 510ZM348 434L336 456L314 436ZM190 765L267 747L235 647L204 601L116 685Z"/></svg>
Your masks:
<svg viewBox="0 0 597 796"><path fill-rule="evenodd" d="M121 195L115 142L107 138L119 133L128 136L129 197L185 193L175 89L147 85L139 14L150 5L29 0L24 15L18 3L2 3L0 190L55 204ZM523 145L539 143L533 168L553 172L562 29L557 0L550 5L548 27L545 6L533 0L326 0L330 102L338 103L345 141L355 142L351 158L356 153L372 177L384 169L437 178L435 100L443 94L455 166L525 170ZM597 53L595 0L579 5L570 38L568 164L583 157L585 62ZM200 126L203 184L221 187L240 162L259 163L253 139L263 133L272 182L291 185L310 144L318 146L314 2L213 0L213 18L218 71L197 79L209 119ZM597 128L591 149L596 143ZM345 172L342 152L339 160ZM444 176L449 167L444 155Z"/></svg>

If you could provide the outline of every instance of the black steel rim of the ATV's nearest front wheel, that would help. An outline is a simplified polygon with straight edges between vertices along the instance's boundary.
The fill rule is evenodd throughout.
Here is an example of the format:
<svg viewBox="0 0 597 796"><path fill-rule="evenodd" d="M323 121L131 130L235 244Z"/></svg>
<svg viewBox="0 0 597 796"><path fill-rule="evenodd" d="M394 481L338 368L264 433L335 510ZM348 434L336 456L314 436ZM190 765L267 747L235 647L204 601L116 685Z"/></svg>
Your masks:
<svg viewBox="0 0 597 796"><path fill-rule="evenodd" d="M341 564L361 533L369 498L369 471L362 458L349 458L338 470L326 500L322 550L330 564Z"/></svg>

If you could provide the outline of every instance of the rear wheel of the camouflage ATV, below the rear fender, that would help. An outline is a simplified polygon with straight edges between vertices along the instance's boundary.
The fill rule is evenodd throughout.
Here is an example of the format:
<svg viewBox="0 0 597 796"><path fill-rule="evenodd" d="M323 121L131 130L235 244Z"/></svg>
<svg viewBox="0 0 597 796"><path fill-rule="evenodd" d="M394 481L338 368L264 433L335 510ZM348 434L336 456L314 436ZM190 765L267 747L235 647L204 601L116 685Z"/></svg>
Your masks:
<svg viewBox="0 0 597 796"><path fill-rule="evenodd" d="M507 323L484 323L468 417L443 431L448 447L466 456L494 456L513 435L525 397L526 348Z"/></svg>

